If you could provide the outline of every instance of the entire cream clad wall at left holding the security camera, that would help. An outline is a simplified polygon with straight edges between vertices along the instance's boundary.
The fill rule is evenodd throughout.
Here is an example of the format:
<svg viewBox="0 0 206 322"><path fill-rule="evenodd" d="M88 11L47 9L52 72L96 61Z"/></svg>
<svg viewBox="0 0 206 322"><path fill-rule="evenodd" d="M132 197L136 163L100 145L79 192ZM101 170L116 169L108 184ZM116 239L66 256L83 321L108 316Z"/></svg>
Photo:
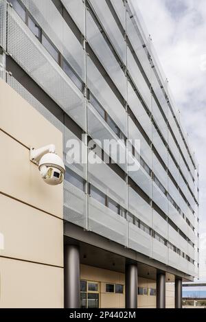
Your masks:
<svg viewBox="0 0 206 322"><path fill-rule="evenodd" d="M62 133L3 81L0 111L0 308L62 308L63 187L30 162L49 143L62 157Z"/></svg>

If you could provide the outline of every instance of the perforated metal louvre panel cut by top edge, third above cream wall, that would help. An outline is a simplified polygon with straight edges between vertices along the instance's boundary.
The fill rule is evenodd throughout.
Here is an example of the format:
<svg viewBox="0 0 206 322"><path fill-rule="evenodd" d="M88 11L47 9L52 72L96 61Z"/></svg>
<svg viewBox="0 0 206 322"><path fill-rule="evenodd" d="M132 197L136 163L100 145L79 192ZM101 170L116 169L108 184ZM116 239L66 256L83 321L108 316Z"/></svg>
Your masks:
<svg viewBox="0 0 206 322"><path fill-rule="evenodd" d="M84 80L84 50L51 0L22 1L71 67Z"/></svg>

